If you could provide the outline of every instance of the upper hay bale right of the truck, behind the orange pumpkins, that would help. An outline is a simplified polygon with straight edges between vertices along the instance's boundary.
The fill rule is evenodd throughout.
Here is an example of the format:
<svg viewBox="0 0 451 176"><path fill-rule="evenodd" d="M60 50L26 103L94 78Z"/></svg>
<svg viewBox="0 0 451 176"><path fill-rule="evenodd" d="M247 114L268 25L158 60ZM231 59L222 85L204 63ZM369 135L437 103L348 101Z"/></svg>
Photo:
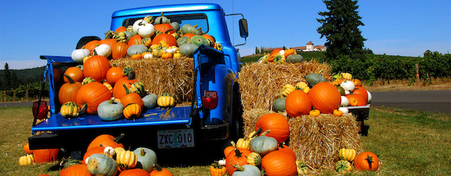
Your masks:
<svg viewBox="0 0 451 176"><path fill-rule="evenodd" d="M306 82L304 76L310 73L319 73L328 80L331 69L327 63L319 63L314 59L294 64L245 64L238 74L243 108L271 109L285 84Z"/></svg>

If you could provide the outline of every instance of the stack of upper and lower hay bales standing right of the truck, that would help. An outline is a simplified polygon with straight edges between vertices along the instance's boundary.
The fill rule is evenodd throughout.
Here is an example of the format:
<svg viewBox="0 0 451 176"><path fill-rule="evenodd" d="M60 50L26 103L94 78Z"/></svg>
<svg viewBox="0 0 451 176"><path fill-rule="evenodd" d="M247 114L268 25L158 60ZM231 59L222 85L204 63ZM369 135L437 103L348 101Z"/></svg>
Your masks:
<svg viewBox="0 0 451 176"><path fill-rule="evenodd" d="M280 97L285 84L306 82L305 75L319 73L330 81L330 65L315 60L302 63L244 65L239 73L243 105L245 135L255 130L261 115L273 113L274 100ZM312 170L332 169L338 161L341 148L362 151L359 129L355 116L348 113L337 117L321 114L317 117L302 115L296 118L284 115L290 123L289 146L295 151L297 160L306 163Z"/></svg>

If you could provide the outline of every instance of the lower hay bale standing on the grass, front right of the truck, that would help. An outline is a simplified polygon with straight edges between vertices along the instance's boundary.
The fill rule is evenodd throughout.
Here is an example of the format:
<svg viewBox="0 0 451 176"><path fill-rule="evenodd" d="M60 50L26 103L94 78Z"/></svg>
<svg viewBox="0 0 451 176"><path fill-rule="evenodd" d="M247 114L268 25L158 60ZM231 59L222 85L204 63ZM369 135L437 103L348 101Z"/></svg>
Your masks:
<svg viewBox="0 0 451 176"><path fill-rule="evenodd" d="M346 147L363 151L359 127L352 113L341 117L321 114L290 118L290 148L297 160L304 161L313 170L333 169L338 151Z"/></svg>

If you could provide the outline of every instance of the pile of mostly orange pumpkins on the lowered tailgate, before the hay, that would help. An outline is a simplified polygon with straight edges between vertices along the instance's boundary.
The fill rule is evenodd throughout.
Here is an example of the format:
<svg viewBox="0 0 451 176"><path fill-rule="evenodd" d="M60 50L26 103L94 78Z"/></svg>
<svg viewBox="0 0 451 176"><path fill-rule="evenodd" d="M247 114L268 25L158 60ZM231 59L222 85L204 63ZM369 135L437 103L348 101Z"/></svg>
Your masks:
<svg viewBox="0 0 451 176"><path fill-rule="evenodd" d="M106 121L135 119L144 108L175 106L171 94L147 93L131 67L110 67L108 59L99 55L88 58L82 67L70 67L63 73L66 83L58 90L58 100L65 118L87 113Z"/></svg>

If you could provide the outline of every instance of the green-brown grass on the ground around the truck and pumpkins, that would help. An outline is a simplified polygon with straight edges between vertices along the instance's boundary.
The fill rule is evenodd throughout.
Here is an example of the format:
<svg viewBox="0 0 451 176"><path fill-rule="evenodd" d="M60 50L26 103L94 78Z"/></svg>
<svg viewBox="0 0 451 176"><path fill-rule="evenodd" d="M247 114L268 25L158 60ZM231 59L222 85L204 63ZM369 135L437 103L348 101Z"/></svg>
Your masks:
<svg viewBox="0 0 451 176"><path fill-rule="evenodd" d="M31 135L30 109L0 108L2 175L58 175L58 162L18 164ZM451 115L373 107L365 124L370 128L368 136L362 137L364 149L378 154L382 166L378 172L353 171L351 175L451 175ZM209 165L187 165L168 170L174 175L209 175ZM336 173L324 170L323 174Z"/></svg>

